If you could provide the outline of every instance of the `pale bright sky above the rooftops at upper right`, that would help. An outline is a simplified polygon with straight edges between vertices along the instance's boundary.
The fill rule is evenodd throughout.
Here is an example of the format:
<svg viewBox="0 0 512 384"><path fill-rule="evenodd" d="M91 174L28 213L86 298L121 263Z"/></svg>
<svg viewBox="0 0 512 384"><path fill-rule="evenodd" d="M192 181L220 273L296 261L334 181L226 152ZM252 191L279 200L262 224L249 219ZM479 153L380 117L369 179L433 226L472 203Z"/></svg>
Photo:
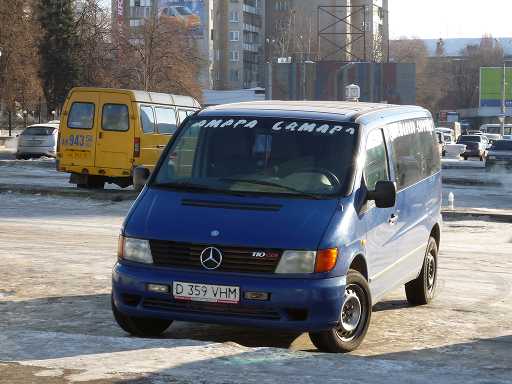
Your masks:
<svg viewBox="0 0 512 384"><path fill-rule="evenodd" d="M390 38L512 37L512 0L389 0Z"/></svg>

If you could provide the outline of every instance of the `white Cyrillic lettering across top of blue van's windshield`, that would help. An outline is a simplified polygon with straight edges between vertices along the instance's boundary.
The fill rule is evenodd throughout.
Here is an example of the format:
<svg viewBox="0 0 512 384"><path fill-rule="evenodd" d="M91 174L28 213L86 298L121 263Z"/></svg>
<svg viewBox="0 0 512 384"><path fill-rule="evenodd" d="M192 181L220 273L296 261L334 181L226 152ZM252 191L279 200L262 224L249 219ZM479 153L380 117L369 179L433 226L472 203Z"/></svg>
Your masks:
<svg viewBox="0 0 512 384"><path fill-rule="evenodd" d="M245 127L245 128L254 128L255 126L259 126L258 120L244 120L244 119L211 119L211 120L200 120L192 124L190 127ZM332 135L335 132L345 132L350 135L355 133L355 129L353 127L347 127L342 125L334 125L334 124L325 124L325 123L307 123L307 122L296 122L296 121L278 121L272 126L272 130L274 131L297 131L297 132L317 132Z"/></svg>

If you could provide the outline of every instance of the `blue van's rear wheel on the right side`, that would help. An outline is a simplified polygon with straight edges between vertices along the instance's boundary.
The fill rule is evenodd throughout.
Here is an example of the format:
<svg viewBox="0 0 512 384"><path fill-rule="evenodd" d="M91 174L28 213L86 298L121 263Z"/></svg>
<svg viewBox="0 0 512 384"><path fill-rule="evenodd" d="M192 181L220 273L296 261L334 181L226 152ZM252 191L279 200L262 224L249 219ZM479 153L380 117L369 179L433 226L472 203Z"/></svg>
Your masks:
<svg viewBox="0 0 512 384"><path fill-rule="evenodd" d="M434 238L429 238L419 276L406 283L406 297L409 303L414 305L429 304L436 292L436 281L437 244Z"/></svg>

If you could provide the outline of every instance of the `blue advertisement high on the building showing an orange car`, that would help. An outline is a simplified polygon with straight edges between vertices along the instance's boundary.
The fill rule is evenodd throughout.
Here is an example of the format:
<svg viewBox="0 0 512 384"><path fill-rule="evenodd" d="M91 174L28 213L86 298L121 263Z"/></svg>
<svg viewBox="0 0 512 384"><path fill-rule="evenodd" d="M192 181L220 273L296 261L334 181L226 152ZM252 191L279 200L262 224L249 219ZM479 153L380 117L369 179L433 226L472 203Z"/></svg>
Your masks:
<svg viewBox="0 0 512 384"><path fill-rule="evenodd" d="M162 23L181 26L198 38L203 38L203 13L203 0L158 0Z"/></svg>

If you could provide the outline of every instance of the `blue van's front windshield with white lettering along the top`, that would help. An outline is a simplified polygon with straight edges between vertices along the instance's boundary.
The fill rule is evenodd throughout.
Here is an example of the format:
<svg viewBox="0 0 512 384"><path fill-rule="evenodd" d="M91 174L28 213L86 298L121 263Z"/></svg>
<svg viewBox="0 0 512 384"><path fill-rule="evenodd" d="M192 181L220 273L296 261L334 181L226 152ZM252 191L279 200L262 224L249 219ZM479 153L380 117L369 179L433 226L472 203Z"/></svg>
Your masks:
<svg viewBox="0 0 512 384"><path fill-rule="evenodd" d="M150 187L339 197L354 172L358 129L318 120L191 118Z"/></svg>

